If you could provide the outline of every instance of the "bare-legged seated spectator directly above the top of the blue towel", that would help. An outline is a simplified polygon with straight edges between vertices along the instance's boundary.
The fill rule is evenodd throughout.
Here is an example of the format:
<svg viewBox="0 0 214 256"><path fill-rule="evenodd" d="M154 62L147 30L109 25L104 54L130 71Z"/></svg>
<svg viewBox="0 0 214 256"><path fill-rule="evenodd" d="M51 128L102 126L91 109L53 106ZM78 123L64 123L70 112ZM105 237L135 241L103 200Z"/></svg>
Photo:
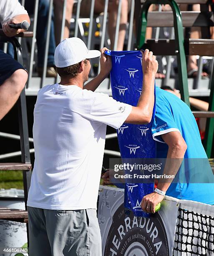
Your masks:
<svg viewBox="0 0 214 256"><path fill-rule="evenodd" d="M108 2L108 33L111 40L111 49L113 50L114 38L116 31L116 21L118 14L118 0L109 0ZM131 0L122 0L121 3L121 19L118 35L117 51L123 51L123 44L126 36L126 24L128 22L128 12L130 10ZM81 3L81 16L89 17L91 0L82 0ZM104 11L105 0L95 0L94 14L99 15Z"/></svg>

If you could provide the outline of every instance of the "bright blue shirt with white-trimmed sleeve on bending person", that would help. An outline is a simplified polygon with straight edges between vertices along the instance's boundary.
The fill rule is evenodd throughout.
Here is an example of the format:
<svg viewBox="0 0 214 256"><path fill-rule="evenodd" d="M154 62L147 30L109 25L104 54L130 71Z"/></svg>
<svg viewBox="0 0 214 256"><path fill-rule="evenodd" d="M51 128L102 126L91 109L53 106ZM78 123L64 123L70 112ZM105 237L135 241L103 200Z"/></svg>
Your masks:
<svg viewBox="0 0 214 256"><path fill-rule="evenodd" d="M187 144L184 162L186 165L188 161L189 167L182 165L184 168L179 169L177 182L171 183L166 195L213 205L214 175L201 143L194 115L176 95L159 87L156 87L156 114L151 131L157 141L157 158L166 158L168 152L168 146L161 138L162 134L178 131ZM199 179L200 183L194 182L199 182Z"/></svg>

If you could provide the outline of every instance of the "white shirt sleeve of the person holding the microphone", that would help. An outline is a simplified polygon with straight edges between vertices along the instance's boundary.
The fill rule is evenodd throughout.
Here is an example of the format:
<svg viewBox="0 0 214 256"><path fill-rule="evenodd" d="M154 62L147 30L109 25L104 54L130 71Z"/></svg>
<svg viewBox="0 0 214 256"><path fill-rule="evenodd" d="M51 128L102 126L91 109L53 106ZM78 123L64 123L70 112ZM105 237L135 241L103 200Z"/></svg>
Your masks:
<svg viewBox="0 0 214 256"><path fill-rule="evenodd" d="M0 0L0 23L3 24L16 15L28 14L18 0Z"/></svg>

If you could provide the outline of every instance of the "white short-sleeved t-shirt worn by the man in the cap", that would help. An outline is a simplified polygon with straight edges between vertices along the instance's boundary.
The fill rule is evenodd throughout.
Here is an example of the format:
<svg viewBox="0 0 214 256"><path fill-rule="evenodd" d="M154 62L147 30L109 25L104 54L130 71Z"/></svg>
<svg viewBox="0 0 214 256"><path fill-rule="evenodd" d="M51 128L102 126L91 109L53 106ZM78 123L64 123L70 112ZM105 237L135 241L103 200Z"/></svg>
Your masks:
<svg viewBox="0 0 214 256"><path fill-rule="evenodd" d="M96 209L106 125L118 129L131 109L76 85L43 87L34 109L35 164L27 205Z"/></svg>

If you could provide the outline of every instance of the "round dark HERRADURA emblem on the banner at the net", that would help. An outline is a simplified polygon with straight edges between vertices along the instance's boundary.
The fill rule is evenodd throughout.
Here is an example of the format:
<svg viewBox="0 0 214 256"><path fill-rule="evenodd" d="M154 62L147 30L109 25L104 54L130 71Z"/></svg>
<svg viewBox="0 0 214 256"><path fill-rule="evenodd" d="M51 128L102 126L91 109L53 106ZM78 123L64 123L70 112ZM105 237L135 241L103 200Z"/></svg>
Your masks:
<svg viewBox="0 0 214 256"><path fill-rule="evenodd" d="M169 256L163 221L158 212L150 218L125 218L123 204L113 215L104 256Z"/></svg>

